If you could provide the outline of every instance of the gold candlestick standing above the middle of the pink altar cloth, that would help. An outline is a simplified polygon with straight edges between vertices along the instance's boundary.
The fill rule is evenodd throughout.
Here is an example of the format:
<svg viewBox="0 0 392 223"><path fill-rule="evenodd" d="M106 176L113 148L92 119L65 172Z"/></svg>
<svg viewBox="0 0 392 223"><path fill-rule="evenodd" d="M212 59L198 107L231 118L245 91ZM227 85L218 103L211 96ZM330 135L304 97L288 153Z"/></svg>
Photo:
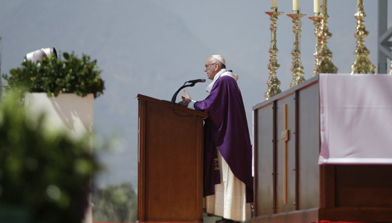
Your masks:
<svg viewBox="0 0 392 223"><path fill-rule="evenodd" d="M354 73L376 73L376 67L370 62L370 52L363 45L364 38L367 37L369 32L365 30L363 19L366 17L365 12L363 11L363 2L362 0L357 1L357 12L354 14L354 17L357 21L357 30L354 36L357 38L357 48L355 49L356 60L351 66L351 74Z"/></svg>

